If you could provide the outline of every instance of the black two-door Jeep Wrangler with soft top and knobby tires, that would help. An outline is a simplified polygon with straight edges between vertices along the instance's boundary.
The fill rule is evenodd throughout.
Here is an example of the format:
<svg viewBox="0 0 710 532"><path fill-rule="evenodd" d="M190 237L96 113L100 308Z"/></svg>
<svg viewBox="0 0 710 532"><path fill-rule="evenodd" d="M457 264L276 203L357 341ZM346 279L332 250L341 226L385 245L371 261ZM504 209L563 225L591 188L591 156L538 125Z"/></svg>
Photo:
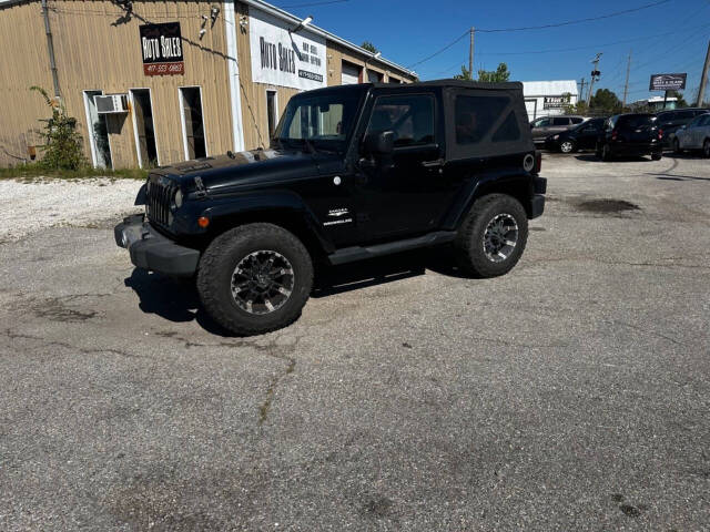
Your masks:
<svg viewBox="0 0 710 532"><path fill-rule="evenodd" d="M115 239L254 335L301 315L315 260L450 243L466 273L505 274L542 214L539 171L520 83L320 89L291 99L268 150L152 171Z"/></svg>

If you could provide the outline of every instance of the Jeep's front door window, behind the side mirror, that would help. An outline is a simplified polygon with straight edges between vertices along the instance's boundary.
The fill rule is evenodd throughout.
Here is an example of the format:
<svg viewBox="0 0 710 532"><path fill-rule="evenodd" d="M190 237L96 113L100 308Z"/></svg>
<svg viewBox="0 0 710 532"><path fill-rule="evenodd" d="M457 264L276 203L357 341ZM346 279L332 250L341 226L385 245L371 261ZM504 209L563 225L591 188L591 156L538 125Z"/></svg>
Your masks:
<svg viewBox="0 0 710 532"><path fill-rule="evenodd" d="M432 144L434 99L426 95L378 98L367 133L382 131L394 131L395 147Z"/></svg>

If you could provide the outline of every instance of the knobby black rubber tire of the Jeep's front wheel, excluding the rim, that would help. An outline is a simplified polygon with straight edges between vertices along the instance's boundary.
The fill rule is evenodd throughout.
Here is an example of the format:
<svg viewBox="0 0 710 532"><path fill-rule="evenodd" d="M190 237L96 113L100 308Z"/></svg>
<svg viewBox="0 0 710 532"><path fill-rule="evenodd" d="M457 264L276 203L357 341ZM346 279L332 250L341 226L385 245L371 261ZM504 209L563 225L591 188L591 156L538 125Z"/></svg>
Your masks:
<svg viewBox="0 0 710 532"><path fill-rule="evenodd" d="M237 305L232 278L241 260L262 250L276 252L291 263L293 290L280 308L255 315ZM261 335L286 327L301 316L313 287L313 262L301 241L283 227L248 224L212 241L200 259L196 285L202 305L217 324L239 336Z"/></svg>

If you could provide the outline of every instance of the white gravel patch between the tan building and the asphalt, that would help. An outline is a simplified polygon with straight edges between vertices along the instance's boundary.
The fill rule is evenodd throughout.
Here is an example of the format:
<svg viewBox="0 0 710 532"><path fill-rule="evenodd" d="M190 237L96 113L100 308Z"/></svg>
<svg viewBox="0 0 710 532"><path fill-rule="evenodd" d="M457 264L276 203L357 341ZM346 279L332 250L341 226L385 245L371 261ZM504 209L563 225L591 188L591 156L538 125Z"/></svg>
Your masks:
<svg viewBox="0 0 710 532"><path fill-rule="evenodd" d="M92 226L140 212L135 180L0 181L0 242L53 226Z"/></svg>

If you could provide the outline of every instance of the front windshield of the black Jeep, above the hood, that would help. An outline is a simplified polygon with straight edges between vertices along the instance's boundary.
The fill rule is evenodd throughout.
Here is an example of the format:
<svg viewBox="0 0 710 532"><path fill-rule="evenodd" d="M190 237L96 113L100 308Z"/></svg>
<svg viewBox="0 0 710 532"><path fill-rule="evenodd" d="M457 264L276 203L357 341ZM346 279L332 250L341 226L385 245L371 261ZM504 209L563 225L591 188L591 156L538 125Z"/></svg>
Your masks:
<svg viewBox="0 0 710 532"><path fill-rule="evenodd" d="M294 96L274 133L285 147L343 151L354 125L358 94Z"/></svg>

